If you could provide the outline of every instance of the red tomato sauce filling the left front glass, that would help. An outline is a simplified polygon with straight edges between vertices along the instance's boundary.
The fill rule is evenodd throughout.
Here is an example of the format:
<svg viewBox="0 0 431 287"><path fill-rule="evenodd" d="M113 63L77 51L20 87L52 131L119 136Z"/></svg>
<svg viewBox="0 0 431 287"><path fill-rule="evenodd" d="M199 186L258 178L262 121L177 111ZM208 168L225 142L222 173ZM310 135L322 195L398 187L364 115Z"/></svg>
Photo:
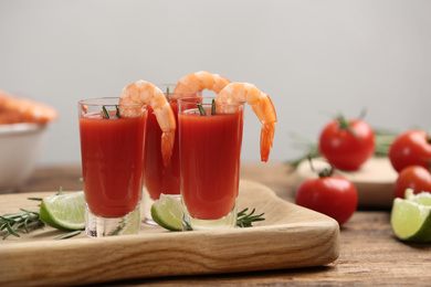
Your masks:
<svg viewBox="0 0 431 287"><path fill-rule="evenodd" d="M120 217L141 198L146 114L80 118L85 200L97 216Z"/></svg>

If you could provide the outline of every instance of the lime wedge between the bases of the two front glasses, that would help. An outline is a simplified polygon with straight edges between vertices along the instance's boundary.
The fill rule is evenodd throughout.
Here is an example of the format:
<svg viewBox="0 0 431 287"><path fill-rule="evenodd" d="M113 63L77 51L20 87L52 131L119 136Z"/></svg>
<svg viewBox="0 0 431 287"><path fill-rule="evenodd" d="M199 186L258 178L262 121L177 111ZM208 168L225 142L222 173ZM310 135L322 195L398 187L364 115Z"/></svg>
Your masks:
<svg viewBox="0 0 431 287"><path fill-rule="evenodd" d="M169 231L181 231L181 198L180 195L160 194L151 205L153 220Z"/></svg>

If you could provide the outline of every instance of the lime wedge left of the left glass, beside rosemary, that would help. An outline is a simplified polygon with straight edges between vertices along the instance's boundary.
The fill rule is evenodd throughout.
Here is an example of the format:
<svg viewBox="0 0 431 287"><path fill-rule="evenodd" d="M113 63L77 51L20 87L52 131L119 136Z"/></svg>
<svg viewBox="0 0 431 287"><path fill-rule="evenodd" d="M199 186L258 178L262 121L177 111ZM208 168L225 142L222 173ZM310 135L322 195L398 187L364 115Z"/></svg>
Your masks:
<svg viewBox="0 0 431 287"><path fill-rule="evenodd" d="M84 192L43 198L40 219L45 224L60 230L85 228Z"/></svg>

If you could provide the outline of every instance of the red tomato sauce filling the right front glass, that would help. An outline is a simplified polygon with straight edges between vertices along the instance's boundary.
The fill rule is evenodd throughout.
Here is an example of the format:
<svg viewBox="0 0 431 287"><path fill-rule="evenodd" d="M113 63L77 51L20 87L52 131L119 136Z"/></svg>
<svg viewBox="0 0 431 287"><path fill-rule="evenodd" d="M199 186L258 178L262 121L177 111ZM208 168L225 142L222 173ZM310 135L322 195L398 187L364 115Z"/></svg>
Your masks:
<svg viewBox="0 0 431 287"><path fill-rule="evenodd" d="M243 111L179 114L181 194L191 216L218 220L235 203L240 179Z"/></svg>

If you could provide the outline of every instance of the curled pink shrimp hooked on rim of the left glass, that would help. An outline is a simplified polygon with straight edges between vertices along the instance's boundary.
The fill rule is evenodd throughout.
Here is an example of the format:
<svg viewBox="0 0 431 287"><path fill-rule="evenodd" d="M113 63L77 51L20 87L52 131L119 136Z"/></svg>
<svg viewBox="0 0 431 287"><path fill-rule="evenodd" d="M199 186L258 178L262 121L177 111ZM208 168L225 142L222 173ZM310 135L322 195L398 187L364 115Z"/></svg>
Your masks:
<svg viewBox="0 0 431 287"><path fill-rule="evenodd" d="M123 88L118 110L119 116L123 117L136 117L139 115L139 107L122 106L124 104L141 104L141 106L148 105L153 108L157 123L162 131L161 156L164 164L167 167L174 148L176 120L164 93L151 83L137 81Z"/></svg>

